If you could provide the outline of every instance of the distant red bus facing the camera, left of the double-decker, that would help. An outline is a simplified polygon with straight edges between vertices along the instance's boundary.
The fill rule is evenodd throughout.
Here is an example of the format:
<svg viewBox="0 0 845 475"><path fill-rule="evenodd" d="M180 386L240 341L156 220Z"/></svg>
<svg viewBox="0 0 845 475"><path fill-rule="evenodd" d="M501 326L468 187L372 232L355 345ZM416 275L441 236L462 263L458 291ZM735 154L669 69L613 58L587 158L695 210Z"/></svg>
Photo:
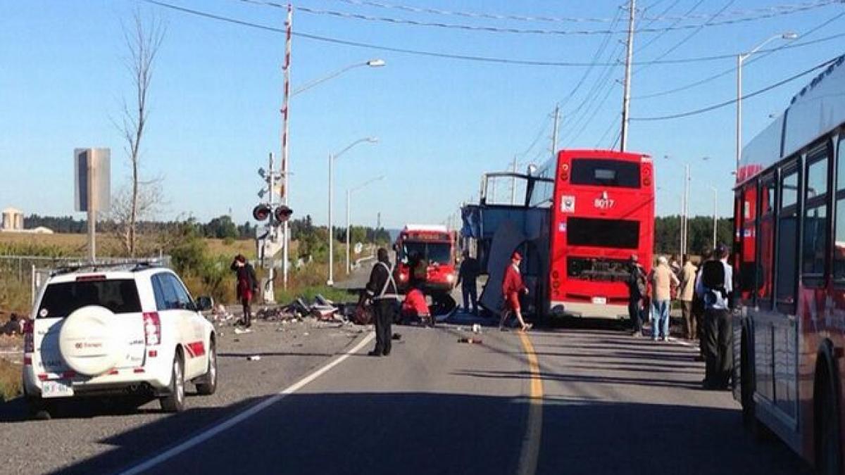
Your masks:
<svg viewBox="0 0 845 475"><path fill-rule="evenodd" d="M408 290L412 259L426 261L423 292L448 293L455 287L455 232L445 226L409 224L396 238L394 276L399 292Z"/></svg>

